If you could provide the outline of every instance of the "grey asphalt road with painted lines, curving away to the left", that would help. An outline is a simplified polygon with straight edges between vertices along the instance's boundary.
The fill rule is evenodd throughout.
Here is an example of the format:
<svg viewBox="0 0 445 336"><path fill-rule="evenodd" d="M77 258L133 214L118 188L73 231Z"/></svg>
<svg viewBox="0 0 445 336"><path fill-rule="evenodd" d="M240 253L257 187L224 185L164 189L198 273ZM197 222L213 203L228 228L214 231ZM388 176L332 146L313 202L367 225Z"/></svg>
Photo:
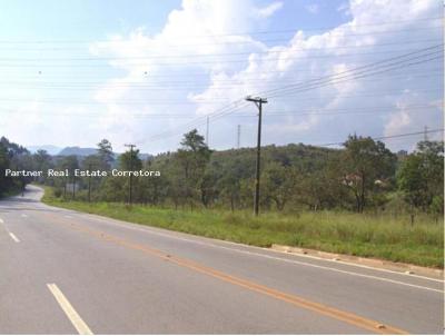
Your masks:
<svg viewBox="0 0 445 336"><path fill-rule="evenodd" d="M444 283L0 201L0 334L442 334ZM210 224L209 224L210 225Z"/></svg>

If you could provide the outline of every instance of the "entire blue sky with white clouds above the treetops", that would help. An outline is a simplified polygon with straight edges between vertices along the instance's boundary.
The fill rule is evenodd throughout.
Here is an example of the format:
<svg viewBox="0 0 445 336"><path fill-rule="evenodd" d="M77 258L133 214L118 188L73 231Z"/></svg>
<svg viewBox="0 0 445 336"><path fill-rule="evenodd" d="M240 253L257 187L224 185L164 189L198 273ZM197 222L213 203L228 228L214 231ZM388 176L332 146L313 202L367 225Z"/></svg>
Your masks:
<svg viewBox="0 0 445 336"><path fill-rule="evenodd" d="M247 95L268 98L265 145L439 129L442 17L438 0L0 0L0 136L156 154L208 119L211 148L238 126L254 146Z"/></svg>

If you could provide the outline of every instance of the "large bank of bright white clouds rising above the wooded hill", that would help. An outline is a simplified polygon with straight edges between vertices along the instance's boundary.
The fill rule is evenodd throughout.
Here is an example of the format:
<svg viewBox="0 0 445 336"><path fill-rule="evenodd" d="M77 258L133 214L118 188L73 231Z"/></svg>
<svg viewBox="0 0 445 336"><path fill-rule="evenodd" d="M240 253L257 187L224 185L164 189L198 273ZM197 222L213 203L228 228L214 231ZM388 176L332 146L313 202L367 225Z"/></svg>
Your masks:
<svg viewBox="0 0 445 336"><path fill-rule="evenodd" d="M180 9L170 12L164 29L157 34L140 28L128 36L110 36L107 42L93 43L90 52L116 58L110 65L120 75L95 92L92 99L99 103L98 110L97 107L82 107L80 110L75 106L71 113L95 111L101 113L101 118L93 119L93 123L79 118L69 128L61 118L41 118L47 125L36 121L29 132L32 135L36 129L43 130L39 131L42 134L41 142L51 142L59 135L71 145L96 144L107 137L117 149L119 144L135 141L144 151L171 150L177 148L179 135L162 138L161 141L150 139L190 119L150 118L150 115L207 115L246 95L340 73L433 45L409 43L412 41L442 38L441 28L431 29L434 22L418 20L437 17L441 6L435 0L352 0L339 9L349 13L346 23L320 33L295 31L288 42L273 46L263 43L261 37L241 33L265 30L265 19L273 20L280 8L283 2L278 1L257 7L253 0L185 0ZM285 13L281 11L279 14ZM408 29L409 33L404 32ZM438 63L433 62L427 70L441 68ZM354 131L378 137L418 130L424 125L431 128L443 125L439 109L422 113L409 108L412 105L427 105L442 97L432 86L436 81L437 88L443 86L442 70L436 73L425 71L431 77L419 77L423 71L415 69L398 71L398 77L382 73L376 78L338 82L319 90L289 90L285 95L269 97L269 103L264 109L265 144L324 144L342 141ZM184 87L180 82L184 82ZM373 110L380 106L387 107L388 111L383 113L376 109L373 115ZM239 113L254 113L255 109L251 105L240 109ZM366 109L367 113L358 113ZM314 113L301 113L307 110ZM316 115L330 110L352 113ZM43 110L38 107L34 111L38 113ZM273 117L274 112L288 115ZM132 117L134 113L148 116ZM44 129L50 120L53 126ZM227 148L235 144L227 135L236 134L237 123L243 125L244 146L253 145L254 121L255 118L240 117L211 121L211 145ZM10 127L10 134L12 130L23 134L14 129L12 121L2 122L6 129ZM179 129L187 131L186 128ZM93 131L88 134L85 130ZM31 144L31 138L26 139L24 142ZM394 142L392 148L411 148L416 140L403 139Z"/></svg>

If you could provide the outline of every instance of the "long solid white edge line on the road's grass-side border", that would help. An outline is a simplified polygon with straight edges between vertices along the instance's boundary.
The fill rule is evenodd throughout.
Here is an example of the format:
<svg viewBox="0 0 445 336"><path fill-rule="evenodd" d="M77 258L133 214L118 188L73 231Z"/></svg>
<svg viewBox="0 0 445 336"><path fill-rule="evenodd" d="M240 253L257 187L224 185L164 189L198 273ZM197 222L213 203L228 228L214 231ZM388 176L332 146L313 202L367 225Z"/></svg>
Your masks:
<svg viewBox="0 0 445 336"><path fill-rule="evenodd" d="M95 219L99 219L101 221L105 221L106 224L109 224L108 218L103 219L100 216L96 215L90 215L90 214L82 214L86 215L88 217L95 217ZM348 270L343 270L343 269L338 269L338 268L334 268L334 267L328 267L328 266L322 266L322 265L314 265L314 264L309 264L309 263L305 263L305 261L298 261L295 259L287 259L287 258L280 258L280 257L274 257L274 256L269 256L269 255L264 255L264 254L259 254L259 253L254 253L254 251L248 251L248 250L243 250L243 249L236 249L236 248L230 248L230 247L226 247L226 246L220 246L220 245L216 245L216 244L210 244L210 243L204 243L204 241L199 241L199 240L194 240L194 239L187 239L187 238L182 238L182 237L177 237L175 235L168 235L168 234L162 234L162 233L157 233L151 230L150 228L139 228L139 227L132 227L132 226L128 226L125 223L119 223L116 219L112 219L112 221L118 225L119 227L122 228L130 228L134 230L139 230L139 231L145 231L145 233L150 233L154 235L158 235L158 236L162 236L162 237L167 237L167 238L174 238L174 239L178 239L178 240L184 240L184 241L189 241L189 243L194 243L194 244L198 244L198 245L202 245L202 246L210 246L210 247L216 247L216 248L221 248L221 249L227 249L227 250L231 250L231 251L237 251L240 254L246 254L246 255L253 255L253 256L258 256L258 257L263 257L263 258L267 258L267 259L273 259L273 260L279 260L279 261L285 261L285 263L289 263L289 264L297 264L297 265L303 265L303 266L308 266L308 267L314 267L314 268L319 268L319 269L325 269L325 270L332 270L332 271L337 271L337 273L342 273L342 274L347 274L347 275L353 275L353 276L357 276L357 277L364 277L364 278L369 278L369 279L375 279L375 280L380 280L380 281L386 281L386 283L392 283L392 284L396 284L396 285L403 285L403 286L408 286L408 287L413 287L413 288L418 288L418 289L425 289L425 290L431 290L431 291L437 291L441 294L444 294L444 290L441 289L436 289L436 288L431 288L431 287L425 287L425 286L419 286L419 285L414 285L414 284L408 284L408 283L404 283L404 281L398 281L398 280L393 280L386 277L378 277L378 276L373 276L373 275L365 275L365 274L360 274L360 273L355 273L355 271L348 271ZM235 243L236 244L236 243ZM317 258L318 259L318 258ZM320 258L322 260L325 260L323 258ZM330 260L327 260L330 261ZM355 264L350 265L345 263L348 266L355 266ZM376 270L380 270L379 268L373 268L372 269L376 269ZM386 269L385 269L386 270ZM397 271L390 271L397 275L405 275L403 273L397 273ZM408 276L408 275L405 275ZM409 275L413 276L413 275ZM443 283L441 280L436 280L436 279L432 279L432 278L427 278L428 280L435 280L435 281L439 281Z"/></svg>

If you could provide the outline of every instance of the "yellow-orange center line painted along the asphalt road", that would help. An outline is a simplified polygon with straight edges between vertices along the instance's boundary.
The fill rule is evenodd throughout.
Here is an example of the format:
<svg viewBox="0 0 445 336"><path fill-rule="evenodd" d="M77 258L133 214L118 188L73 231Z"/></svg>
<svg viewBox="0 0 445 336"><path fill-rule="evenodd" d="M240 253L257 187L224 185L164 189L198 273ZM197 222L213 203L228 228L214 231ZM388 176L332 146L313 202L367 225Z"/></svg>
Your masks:
<svg viewBox="0 0 445 336"><path fill-rule="evenodd" d="M399 329L399 328L396 328L393 326L384 325L377 320L368 319L366 317L362 317L362 316L358 316L353 313L339 310L337 308L334 308L334 307L330 307L330 306L327 306L324 304L319 304L316 302L312 302L312 300L301 298L301 297L293 295L293 294L279 291L277 289L260 285L260 284L247 280L247 279L243 279L243 278L238 278L238 277L228 275L228 274L219 271L217 269L197 264L192 260L172 256L172 255L164 253L159 249L148 247L147 245L132 243L130 240L121 239L116 236L105 234L102 231L92 230L83 225L73 224L72 221L67 221L66 219L63 219L61 217L56 217L55 215L49 215L49 214L42 214L42 215L44 215L46 217L52 217L56 220L53 223L68 224L71 229L76 229L78 231L82 231L90 236L95 236L101 240L113 243L113 244L117 244L117 245L120 245L120 246L123 246L123 247L127 247L127 248L130 248L134 250L144 251L151 256L159 257L164 260L171 261L178 266L186 267L188 269L192 269L197 273L205 274L205 275L211 276L214 278L218 278L222 281L230 283L233 285L236 285L236 286L239 286L239 287L243 287L243 288L256 291L256 293L260 293L263 295L279 299L281 302L286 302L294 306L298 306L298 307L318 313L320 315L325 315L325 316L335 318L337 320L345 322L349 325L354 325L354 326L364 328L366 330L369 330L369 332L373 332L376 334L384 334L384 335L386 335L386 334L389 334L389 335L390 334L393 334L393 335L394 334L409 334L406 330L403 330L403 329Z"/></svg>

